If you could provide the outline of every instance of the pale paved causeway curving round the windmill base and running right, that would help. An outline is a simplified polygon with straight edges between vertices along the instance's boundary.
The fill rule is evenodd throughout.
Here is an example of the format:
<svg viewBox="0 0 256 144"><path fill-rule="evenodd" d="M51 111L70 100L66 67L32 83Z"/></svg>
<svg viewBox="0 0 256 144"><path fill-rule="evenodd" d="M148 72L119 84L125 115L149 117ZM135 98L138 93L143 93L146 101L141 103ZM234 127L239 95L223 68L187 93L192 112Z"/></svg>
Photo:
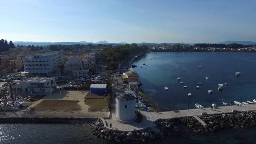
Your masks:
<svg viewBox="0 0 256 144"><path fill-rule="evenodd" d="M233 113L233 110L238 112L242 111L255 111L255 105L242 105L242 106L220 106L211 110L210 107L204 109L189 109L189 110L178 110L177 112L165 111L165 112L146 112L140 111L143 114L143 121L141 123L132 122L130 124L123 124L116 120L115 118L115 108L112 109L109 118L105 119L105 127L108 129L116 131L134 131L134 130L144 130L153 126L154 122L159 119L170 119L170 118L182 118L182 117L193 117L202 115L202 113L207 114L223 114L223 113ZM110 128L110 124L112 127Z"/></svg>

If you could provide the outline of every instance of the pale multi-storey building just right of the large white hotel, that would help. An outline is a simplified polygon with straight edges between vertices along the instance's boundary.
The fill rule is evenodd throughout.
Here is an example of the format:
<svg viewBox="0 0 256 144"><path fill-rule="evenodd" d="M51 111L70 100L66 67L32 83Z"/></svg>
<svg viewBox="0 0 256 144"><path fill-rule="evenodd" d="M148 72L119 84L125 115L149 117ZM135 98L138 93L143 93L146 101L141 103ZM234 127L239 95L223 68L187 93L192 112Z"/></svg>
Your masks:
<svg viewBox="0 0 256 144"><path fill-rule="evenodd" d="M68 61L65 64L65 72L71 76L87 76L89 70L84 67L83 62L79 61L78 56L68 57Z"/></svg>

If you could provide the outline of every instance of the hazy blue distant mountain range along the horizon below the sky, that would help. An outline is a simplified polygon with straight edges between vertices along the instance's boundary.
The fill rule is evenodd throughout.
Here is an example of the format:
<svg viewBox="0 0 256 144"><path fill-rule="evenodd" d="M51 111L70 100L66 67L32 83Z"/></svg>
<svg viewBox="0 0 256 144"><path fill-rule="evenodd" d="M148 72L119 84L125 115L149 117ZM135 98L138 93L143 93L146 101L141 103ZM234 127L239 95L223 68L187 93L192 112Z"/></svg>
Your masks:
<svg viewBox="0 0 256 144"><path fill-rule="evenodd" d="M114 45L125 45L125 44L131 44L128 42L120 42L120 43L109 43L107 41L99 41L99 42L86 42L86 41L80 41L80 42L24 42L24 41L16 41L13 42L16 46L17 45L24 45L24 46L28 46L28 45L34 45L34 46L46 46L46 45L76 45L76 44L80 44L80 45L86 45L86 44L114 44ZM187 44L187 45L195 45L196 43L185 43L185 42L180 42L182 44ZM242 44L242 45L256 45L256 42L252 42L252 41L224 41L224 42L217 42L217 44L219 43L223 43L223 44L230 44L230 43L238 43L238 44ZM173 43L148 43L148 42L141 42L141 43L137 43L138 45L169 45L169 44L173 44Z"/></svg>

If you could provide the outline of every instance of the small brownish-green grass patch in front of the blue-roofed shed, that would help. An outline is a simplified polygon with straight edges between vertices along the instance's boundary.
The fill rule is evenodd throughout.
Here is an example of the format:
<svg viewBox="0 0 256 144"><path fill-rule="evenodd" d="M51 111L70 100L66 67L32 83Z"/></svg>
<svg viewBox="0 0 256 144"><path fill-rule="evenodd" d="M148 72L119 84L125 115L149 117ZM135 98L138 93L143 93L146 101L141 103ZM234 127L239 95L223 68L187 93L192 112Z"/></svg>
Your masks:
<svg viewBox="0 0 256 144"><path fill-rule="evenodd" d="M102 111L105 110L105 105L107 102L107 96L103 99L85 99L84 103L90 106L89 111Z"/></svg>

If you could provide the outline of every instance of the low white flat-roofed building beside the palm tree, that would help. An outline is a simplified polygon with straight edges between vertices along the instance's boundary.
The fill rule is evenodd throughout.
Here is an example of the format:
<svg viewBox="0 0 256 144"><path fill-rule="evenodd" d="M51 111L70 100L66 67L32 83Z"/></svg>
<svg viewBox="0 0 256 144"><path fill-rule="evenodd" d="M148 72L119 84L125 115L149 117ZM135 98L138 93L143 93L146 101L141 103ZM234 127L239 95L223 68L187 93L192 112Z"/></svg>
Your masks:
<svg viewBox="0 0 256 144"><path fill-rule="evenodd" d="M45 94L56 90L54 77L31 77L26 80L20 80L12 85L12 90L23 94Z"/></svg>

